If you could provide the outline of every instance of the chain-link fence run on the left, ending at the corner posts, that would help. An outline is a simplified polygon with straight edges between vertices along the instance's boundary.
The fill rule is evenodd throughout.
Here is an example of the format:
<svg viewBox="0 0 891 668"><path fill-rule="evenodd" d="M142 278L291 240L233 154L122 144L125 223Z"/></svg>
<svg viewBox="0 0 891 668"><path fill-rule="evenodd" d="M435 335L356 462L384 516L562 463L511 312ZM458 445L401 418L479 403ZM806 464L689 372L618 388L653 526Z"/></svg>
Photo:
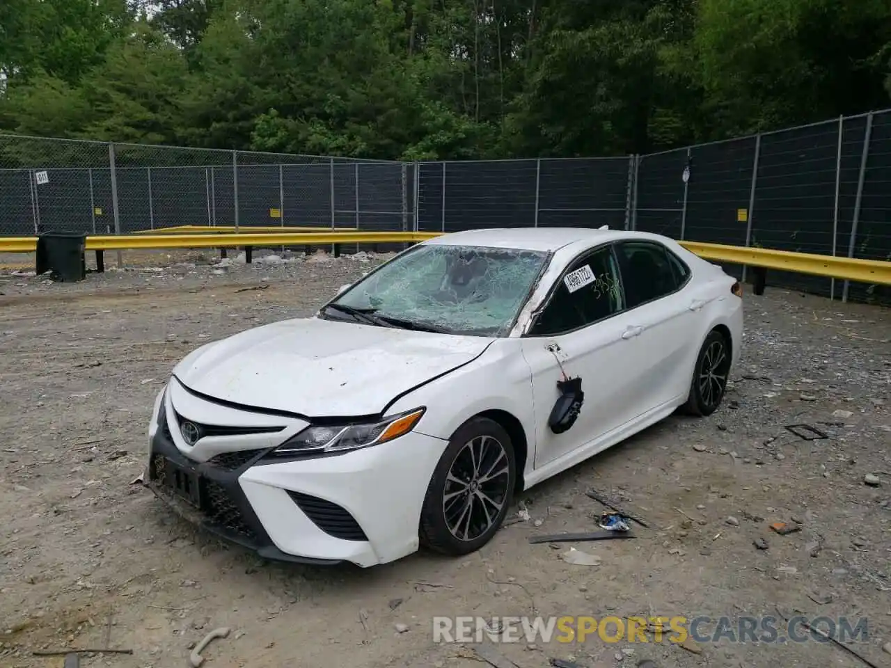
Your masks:
<svg viewBox="0 0 891 668"><path fill-rule="evenodd" d="M177 225L413 229L401 162L0 134L0 235Z"/></svg>

